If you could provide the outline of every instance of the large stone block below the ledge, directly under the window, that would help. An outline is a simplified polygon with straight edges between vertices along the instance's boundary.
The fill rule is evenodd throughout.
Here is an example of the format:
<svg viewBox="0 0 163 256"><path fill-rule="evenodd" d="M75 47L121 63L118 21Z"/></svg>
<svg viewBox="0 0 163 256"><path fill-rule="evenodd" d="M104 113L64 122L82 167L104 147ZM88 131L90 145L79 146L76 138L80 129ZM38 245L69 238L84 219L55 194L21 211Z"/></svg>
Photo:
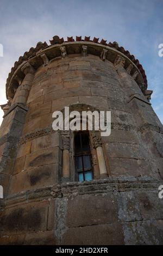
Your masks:
<svg viewBox="0 0 163 256"><path fill-rule="evenodd" d="M68 200L66 227L118 222L117 200L112 194L86 194Z"/></svg>

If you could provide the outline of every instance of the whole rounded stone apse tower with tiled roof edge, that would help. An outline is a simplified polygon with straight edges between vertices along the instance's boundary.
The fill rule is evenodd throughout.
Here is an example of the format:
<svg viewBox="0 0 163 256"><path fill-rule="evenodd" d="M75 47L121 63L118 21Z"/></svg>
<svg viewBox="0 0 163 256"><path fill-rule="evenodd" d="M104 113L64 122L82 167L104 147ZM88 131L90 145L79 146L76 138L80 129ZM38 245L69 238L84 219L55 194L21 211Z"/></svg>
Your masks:
<svg viewBox="0 0 163 256"><path fill-rule="evenodd" d="M117 42L54 36L15 62L0 129L1 245L163 244L162 124ZM52 113L111 111L111 135L54 131Z"/></svg>

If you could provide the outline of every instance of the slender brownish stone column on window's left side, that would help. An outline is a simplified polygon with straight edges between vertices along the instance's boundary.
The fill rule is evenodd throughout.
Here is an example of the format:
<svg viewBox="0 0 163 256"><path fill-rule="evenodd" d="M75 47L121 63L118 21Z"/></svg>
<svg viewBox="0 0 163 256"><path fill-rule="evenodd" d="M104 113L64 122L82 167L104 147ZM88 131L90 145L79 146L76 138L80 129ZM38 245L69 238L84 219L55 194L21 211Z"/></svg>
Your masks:
<svg viewBox="0 0 163 256"><path fill-rule="evenodd" d="M70 181L70 134L62 131L62 181Z"/></svg>

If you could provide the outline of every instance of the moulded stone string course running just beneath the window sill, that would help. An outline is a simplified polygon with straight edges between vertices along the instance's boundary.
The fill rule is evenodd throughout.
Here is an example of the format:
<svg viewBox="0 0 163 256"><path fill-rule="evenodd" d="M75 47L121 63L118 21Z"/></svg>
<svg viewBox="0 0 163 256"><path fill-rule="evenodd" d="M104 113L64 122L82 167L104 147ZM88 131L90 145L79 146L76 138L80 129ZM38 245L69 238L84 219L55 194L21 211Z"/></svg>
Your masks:
<svg viewBox="0 0 163 256"><path fill-rule="evenodd" d="M108 192L127 192L127 191L153 191L158 192L161 180L118 180L118 179L99 179L85 182L66 182L54 184L53 186L37 188L36 190L22 191L12 194L4 199L5 208L26 202L36 202L57 197L71 197L82 194L98 194Z"/></svg>

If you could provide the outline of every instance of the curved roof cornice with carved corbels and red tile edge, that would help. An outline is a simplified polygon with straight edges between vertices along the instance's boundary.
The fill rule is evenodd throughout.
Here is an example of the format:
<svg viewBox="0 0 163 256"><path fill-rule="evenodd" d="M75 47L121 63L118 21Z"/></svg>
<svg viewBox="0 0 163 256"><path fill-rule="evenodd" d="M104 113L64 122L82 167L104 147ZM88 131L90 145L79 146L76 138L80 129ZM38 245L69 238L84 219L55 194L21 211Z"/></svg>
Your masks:
<svg viewBox="0 0 163 256"><path fill-rule="evenodd" d="M66 54L73 52L78 53L79 50L84 55L87 51L88 54L95 54L101 57L103 60L109 59L111 62L115 61L117 55L125 58L126 68L132 64L133 72L138 72L139 78L137 78L137 80L139 86L140 84L143 84L143 88L141 89L142 92L144 92L147 89L147 78L142 65L139 63L139 60L135 59L135 57L131 55L129 51L126 51L123 47L118 46L117 42L109 42L109 44L106 44L106 40L102 39L100 42L98 42L98 40L99 38L93 38L93 40L90 40L90 36L85 36L84 39L82 39L82 36L76 36L75 41L71 36L67 37L67 41L65 41L64 38L59 38L59 36L55 35L53 36L53 40L50 40L51 45L49 46L46 42L38 42L35 48L32 47L28 52L25 52L24 55L18 59L18 62L15 62L14 67L11 68L11 72L9 73L6 84L7 99L9 97L14 97L15 90L24 77L21 70L24 64L26 65L26 63L30 63L34 69L37 69L40 65L47 64L47 59L51 60L59 56L65 57ZM58 48L60 51L58 51ZM43 54L46 54L46 61Z"/></svg>

